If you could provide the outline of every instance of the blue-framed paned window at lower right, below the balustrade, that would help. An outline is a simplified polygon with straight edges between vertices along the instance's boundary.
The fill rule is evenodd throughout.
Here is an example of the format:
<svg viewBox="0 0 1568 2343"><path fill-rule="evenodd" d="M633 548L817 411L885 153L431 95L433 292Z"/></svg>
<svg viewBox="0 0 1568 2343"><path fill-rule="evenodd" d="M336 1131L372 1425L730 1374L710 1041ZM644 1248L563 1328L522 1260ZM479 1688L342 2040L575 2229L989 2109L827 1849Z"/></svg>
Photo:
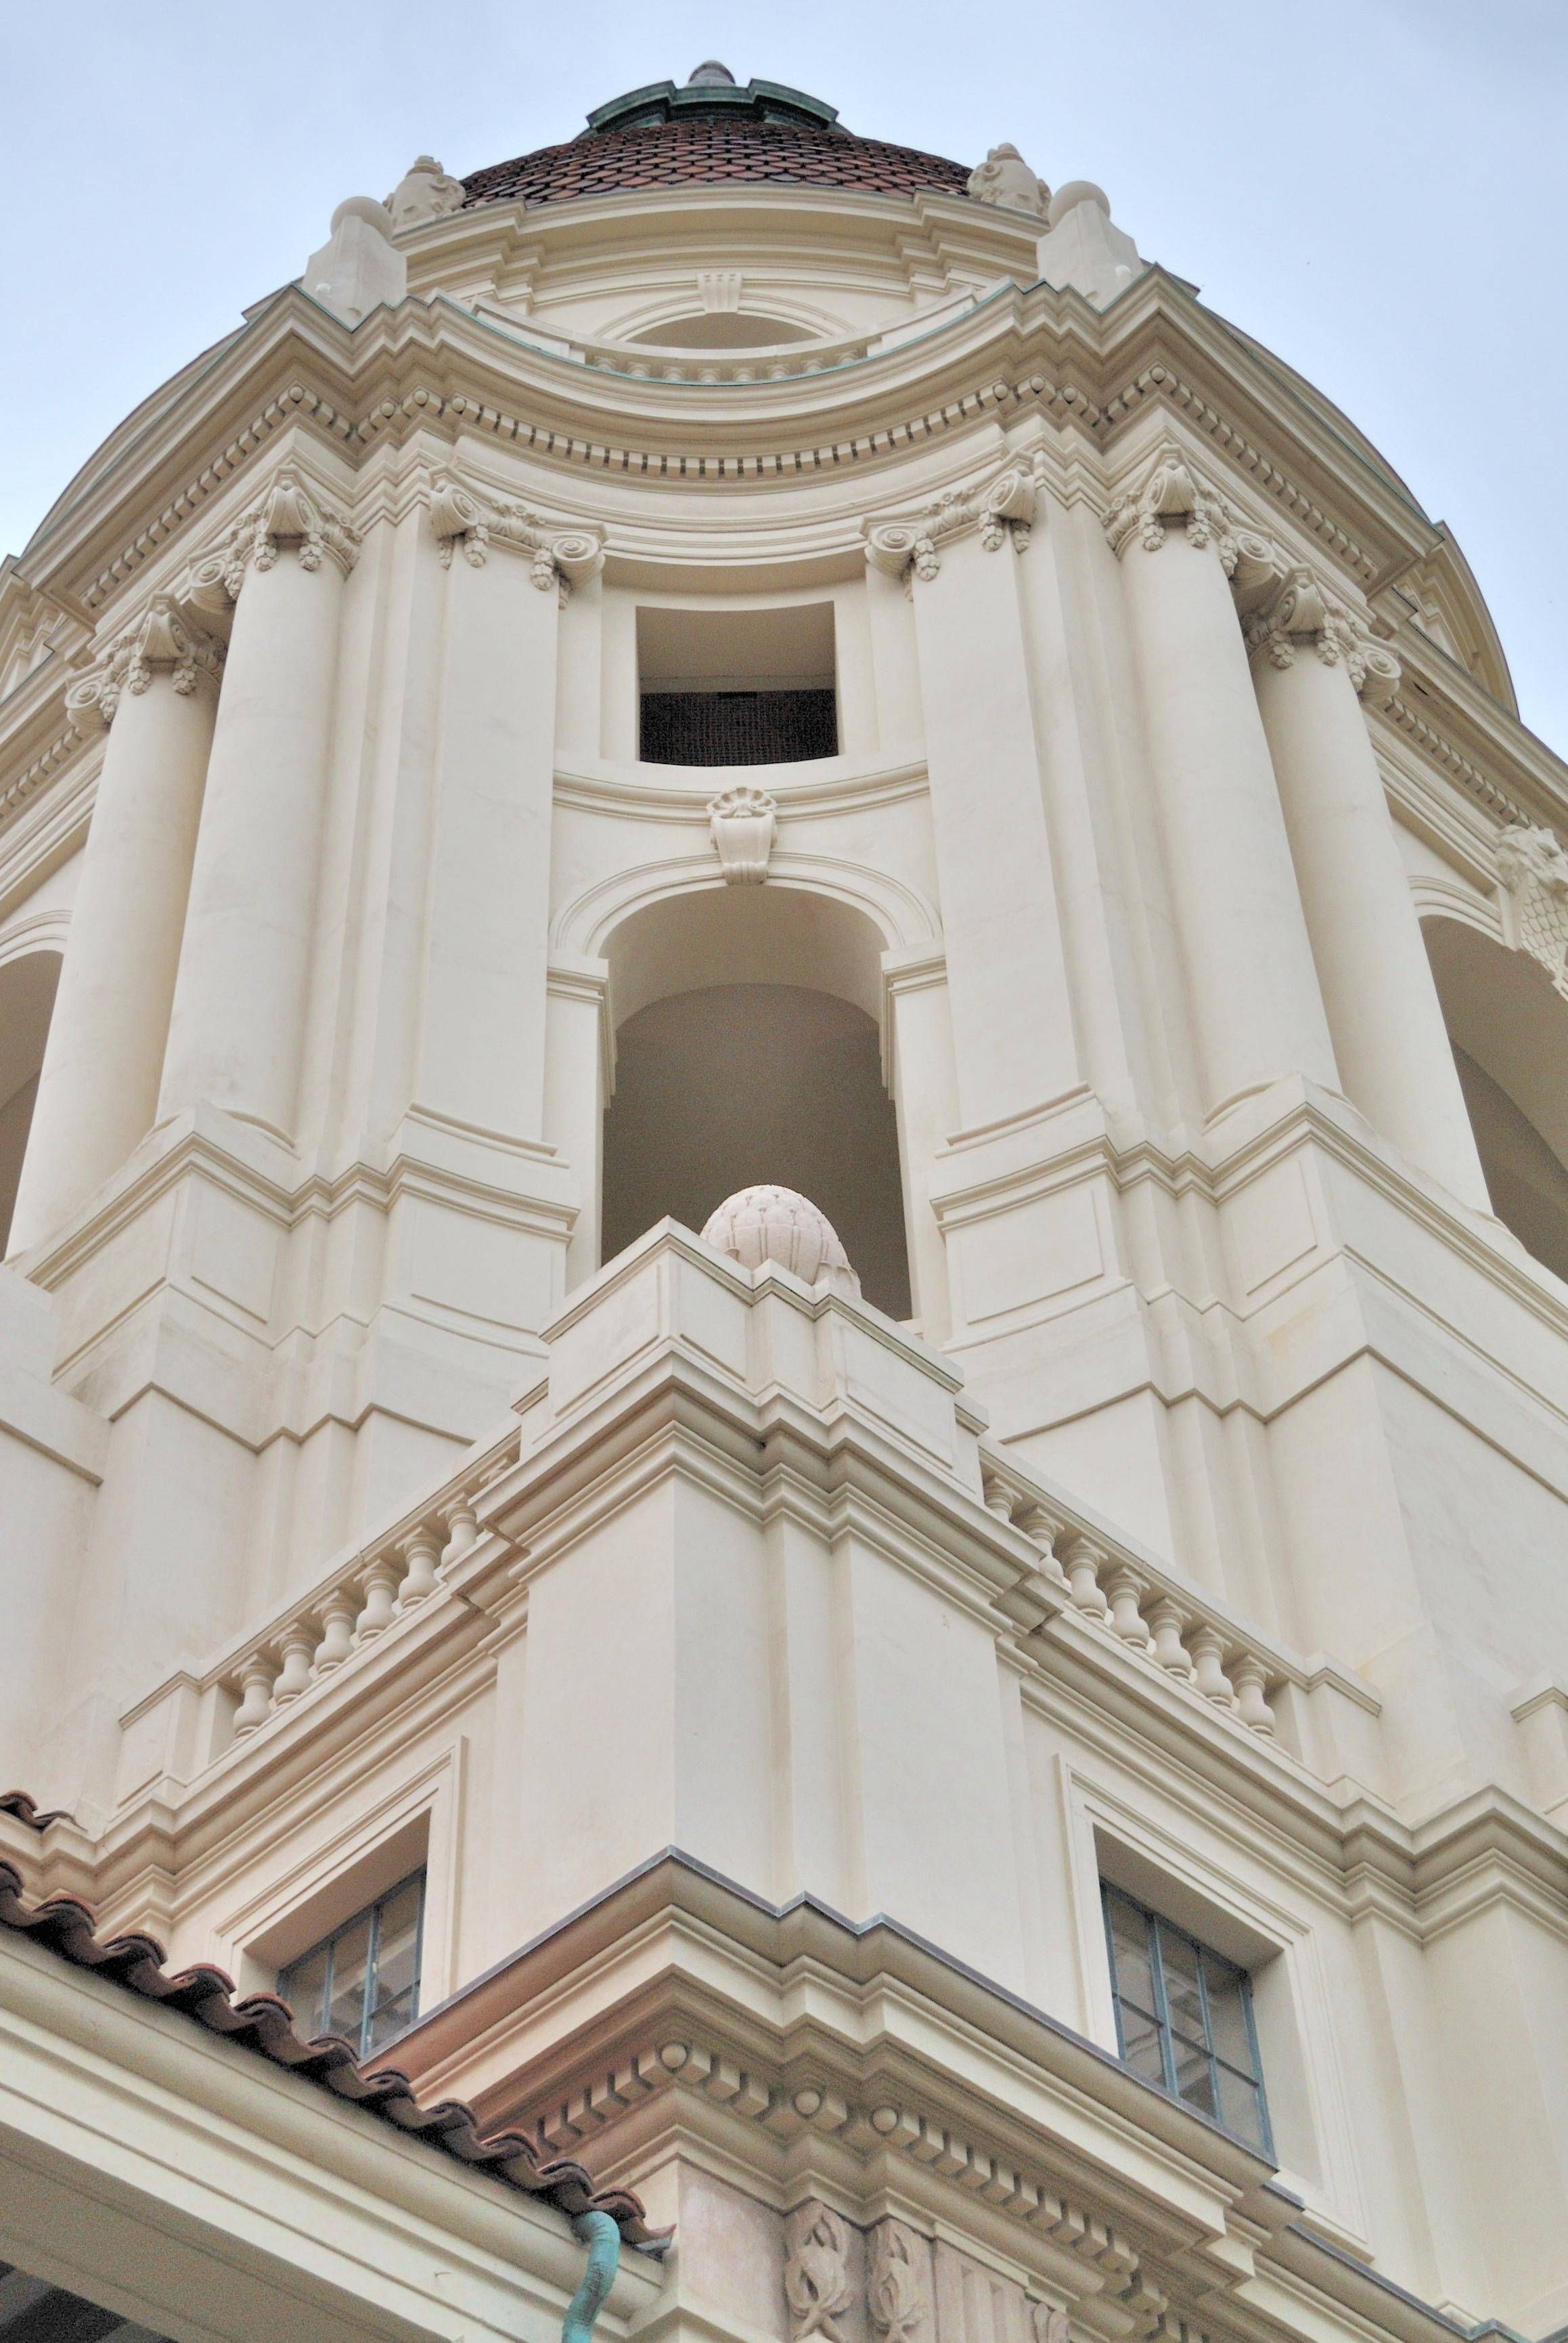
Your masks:
<svg viewBox="0 0 1568 2343"><path fill-rule="evenodd" d="M1102 1898L1123 2064L1273 2158L1247 1970L1120 1888Z"/></svg>

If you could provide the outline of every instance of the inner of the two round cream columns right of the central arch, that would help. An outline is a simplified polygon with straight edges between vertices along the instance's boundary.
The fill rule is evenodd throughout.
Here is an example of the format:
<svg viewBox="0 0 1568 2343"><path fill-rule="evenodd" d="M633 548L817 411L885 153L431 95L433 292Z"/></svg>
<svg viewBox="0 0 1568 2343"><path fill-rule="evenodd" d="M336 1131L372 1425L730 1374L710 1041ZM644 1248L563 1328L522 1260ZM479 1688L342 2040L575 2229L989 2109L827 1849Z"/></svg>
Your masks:
<svg viewBox="0 0 1568 2343"><path fill-rule="evenodd" d="M1223 508L1165 452L1141 494L1118 497L1106 534L1123 562L1205 1113L1282 1073L1338 1089Z"/></svg>

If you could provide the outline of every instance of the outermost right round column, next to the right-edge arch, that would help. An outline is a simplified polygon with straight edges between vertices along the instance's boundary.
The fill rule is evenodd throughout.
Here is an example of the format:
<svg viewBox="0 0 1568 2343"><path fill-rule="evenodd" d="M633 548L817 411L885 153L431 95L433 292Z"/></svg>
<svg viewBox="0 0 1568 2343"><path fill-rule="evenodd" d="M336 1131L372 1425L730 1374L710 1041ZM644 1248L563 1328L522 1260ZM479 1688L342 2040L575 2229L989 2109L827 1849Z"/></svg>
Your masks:
<svg viewBox="0 0 1568 2343"><path fill-rule="evenodd" d="M1399 663L1310 569L1284 576L1247 640L1345 1097L1453 1195L1488 1211L1357 698L1362 689L1388 698Z"/></svg>

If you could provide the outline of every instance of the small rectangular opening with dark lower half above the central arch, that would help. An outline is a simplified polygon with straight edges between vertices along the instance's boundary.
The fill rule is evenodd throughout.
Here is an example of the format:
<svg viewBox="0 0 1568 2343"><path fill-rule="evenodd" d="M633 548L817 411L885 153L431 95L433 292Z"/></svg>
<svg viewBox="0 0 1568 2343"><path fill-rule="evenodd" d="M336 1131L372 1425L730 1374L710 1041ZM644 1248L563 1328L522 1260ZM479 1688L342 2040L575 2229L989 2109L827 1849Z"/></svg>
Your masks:
<svg viewBox="0 0 1568 2343"><path fill-rule="evenodd" d="M806 764L839 754L832 602L638 609L642 764Z"/></svg>

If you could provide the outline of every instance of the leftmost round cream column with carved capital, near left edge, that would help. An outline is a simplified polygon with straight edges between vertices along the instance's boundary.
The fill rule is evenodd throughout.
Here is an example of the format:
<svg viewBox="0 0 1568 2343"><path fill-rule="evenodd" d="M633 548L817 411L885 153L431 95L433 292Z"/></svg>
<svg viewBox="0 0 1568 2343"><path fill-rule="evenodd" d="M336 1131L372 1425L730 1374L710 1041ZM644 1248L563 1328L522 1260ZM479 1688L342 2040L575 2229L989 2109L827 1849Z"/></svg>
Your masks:
<svg viewBox="0 0 1568 2343"><path fill-rule="evenodd" d="M157 595L66 708L108 729L12 1246L59 1228L150 1129L223 649Z"/></svg>

